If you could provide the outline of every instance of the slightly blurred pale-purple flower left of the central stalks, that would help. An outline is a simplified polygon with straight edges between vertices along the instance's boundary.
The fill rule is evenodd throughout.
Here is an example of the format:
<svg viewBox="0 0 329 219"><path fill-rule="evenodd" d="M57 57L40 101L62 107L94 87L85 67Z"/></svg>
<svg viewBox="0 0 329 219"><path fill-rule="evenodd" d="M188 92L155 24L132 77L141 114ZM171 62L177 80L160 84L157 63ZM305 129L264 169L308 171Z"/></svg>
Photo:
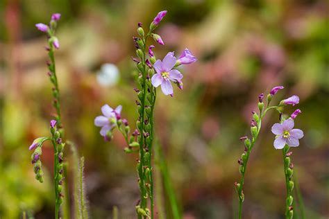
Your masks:
<svg viewBox="0 0 329 219"><path fill-rule="evenodd" d="M94 120L94 124L97 127L101 127L101 136L106 137L108 131L112 130L117 123L117 118L121 115L122 106L119 105L117 108L112 109L109 105L103 105L101 112L103 116L97 116Z"/></svg>

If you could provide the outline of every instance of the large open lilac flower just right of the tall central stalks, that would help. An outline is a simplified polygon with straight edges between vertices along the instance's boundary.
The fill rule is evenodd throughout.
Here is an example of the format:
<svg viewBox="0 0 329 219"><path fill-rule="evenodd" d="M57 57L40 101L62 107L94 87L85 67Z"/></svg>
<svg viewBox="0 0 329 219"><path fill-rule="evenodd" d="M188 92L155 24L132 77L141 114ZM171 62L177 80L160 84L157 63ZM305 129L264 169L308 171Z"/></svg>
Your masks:
<svg viewBox="0 0 329 219"><path fill-rule="evenodd" d="M163 61L157 60L153 67L156 73L152 76L151 82L154 87L161 85L163 94L174 94L171 81L178 82L183 78L183 75L176 69L172 69L176 64L176 57L173 52L169 52Z"/></svg>

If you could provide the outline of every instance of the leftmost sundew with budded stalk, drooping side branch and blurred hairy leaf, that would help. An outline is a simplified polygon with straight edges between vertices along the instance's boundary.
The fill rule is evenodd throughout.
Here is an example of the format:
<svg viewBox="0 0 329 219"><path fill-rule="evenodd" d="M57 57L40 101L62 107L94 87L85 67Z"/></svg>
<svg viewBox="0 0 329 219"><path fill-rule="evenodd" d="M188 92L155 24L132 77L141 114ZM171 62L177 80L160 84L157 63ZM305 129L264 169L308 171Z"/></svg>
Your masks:
<svg viewBox="0 0 329 219"><path fill-rule="evenodd" d="M53 95L53 107L56 110L56 115L50 121L50 132L51 137L40 137L33 141L29 150L34 150L31 155L31 161L34 165L35 179L39 182L43 182L43 171L42 171L42 146L45 141L51 141L53 146L53 186L55 192L55 218L68 218L70 216L70 205L69 205L69 186L65 183L65 176L68 175L67 163L64 163L64 147L65 142L63 141L64 128L62 126L61 112L60 112L60 90L58 86L58 79L56 76L56 63L54 52L56 49L60 49L60 44L58 38L56 37L56 27L61 15L59 13L51 15L51 21L49 25L46 24L36 24L38 30L47 33L48 46L46 50L48 52L49 61L47 61L48 66L48 76L50 78ZM83 182L83 168L84 168L84 157L81 157L80 161L76 158L77 152L73 143L68 142L73 148L74 152L74 172L75 172L75 185L74 185L74 197L76 199L75 204L75 215L77 218L88 218L85 193L84 193L84 182ZM61 205L63 200L65 200L65 208L62 210L61 216Z"/></svg>

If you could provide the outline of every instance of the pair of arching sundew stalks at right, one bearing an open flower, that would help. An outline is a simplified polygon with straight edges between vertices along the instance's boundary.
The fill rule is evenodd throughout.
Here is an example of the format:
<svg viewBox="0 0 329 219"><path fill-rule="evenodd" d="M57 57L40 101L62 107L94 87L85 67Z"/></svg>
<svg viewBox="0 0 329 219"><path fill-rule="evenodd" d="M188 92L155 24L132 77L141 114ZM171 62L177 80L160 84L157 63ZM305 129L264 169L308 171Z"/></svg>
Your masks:
<svg viewBox="0 0 329 219"><path fill-rule="evenodd" d="M246 165L248 163L248 159L255 146L255 143L258 139L258 135L260 134L260 128L262 126L262 119L264 116L269 112L271 109L276 109L280 114L280 122L276 123L272 127L273 134L276 134L276 140L273 143L274 148L276 149L283 149L283 160L284 160L284 168L285 168L285 179L286 179L286 186L287 186L287 200L286 200L286 218L291 219L294 210L292 207L293 197L292 197L292 189L294 188L294 182L292 181L292 173L293 173L293 165L290 162L289 156L292 155L292 152L289 151L289 147L297 147L299 146L298 139L303 137L303 131L294 128L294 119L296 116L301 113L300 109L296 109L294 113L290 116L289 119L282 118L282 110L285 105L296 105L299 103L299 97L294 95L285 100L280 101L279 105L271 106L270 103L273 96L280 90L283 89L283 86L273 87L270 93L267 95L267 105L264 106L263 99L264 94L260 94L258 96L258 109L259 114L253 111L253 120L251 121L251 139L244 136L241 137L240 140L244 141L244 152L240 159L238 159L238 164L240 165L239 172L241 173L242 177L240 182L235 182L235 189L237 191L237 195L239 198L239 219L242 218L242 203L244 202L244 176L246 174Z"/></svg>

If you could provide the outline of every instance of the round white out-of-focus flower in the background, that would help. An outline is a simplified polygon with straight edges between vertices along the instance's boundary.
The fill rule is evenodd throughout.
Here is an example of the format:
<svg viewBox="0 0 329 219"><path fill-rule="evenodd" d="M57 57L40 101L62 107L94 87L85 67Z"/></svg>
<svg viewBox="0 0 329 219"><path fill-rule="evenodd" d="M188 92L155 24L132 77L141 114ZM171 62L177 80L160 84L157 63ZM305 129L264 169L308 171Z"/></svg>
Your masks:
<svg viewBox="0 0 329 219"><path fill-rule="evenodd" d="M116 85L119 81L119 69L115 64L103 64L101 70L97 72L96 79L99 85L103 87Z"/></svg>

